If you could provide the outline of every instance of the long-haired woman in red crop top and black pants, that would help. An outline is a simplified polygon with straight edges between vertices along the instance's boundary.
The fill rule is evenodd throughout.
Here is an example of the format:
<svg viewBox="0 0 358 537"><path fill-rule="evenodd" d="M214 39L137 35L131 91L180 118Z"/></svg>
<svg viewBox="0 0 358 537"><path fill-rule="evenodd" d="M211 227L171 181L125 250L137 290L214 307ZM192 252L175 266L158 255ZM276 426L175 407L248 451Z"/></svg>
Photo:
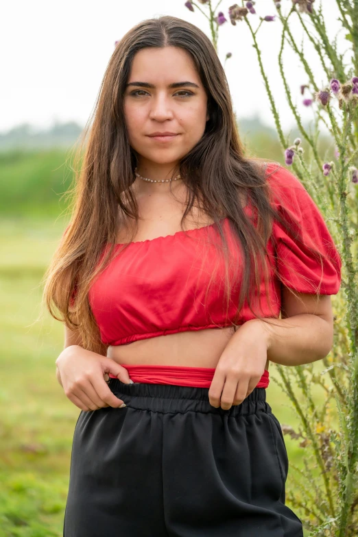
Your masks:
<svg viewBox="0 0 358 537"><path fill-rule="evenodd" d="M302 537L268 365L329 353L341 259L298 179L244 155L200 29L117 43L76 194L45 286L81 409L64 536Z"/></svg>

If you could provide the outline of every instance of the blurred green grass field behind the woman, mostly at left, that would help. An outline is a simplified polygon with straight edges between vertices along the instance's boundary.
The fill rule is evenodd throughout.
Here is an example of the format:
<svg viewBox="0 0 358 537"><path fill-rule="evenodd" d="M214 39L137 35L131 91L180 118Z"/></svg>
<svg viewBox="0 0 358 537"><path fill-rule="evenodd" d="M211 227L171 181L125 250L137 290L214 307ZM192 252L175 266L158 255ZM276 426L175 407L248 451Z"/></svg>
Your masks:
<svg viewBox="0 0 358 537"><path fill-rule="evenodd" d="M1 201L5 207L7 200L7 212L0 222L0 537L60 537L73 429L80 409L64 396L56 380L55 361L63 348L64 329L46 311L40 312L40 281L67 223L58 217L58 192L65 190L66 182L62 183L62 172L54 171L64 155L45 155L42 161L38 155L25 155L19 160L18 167L14 155L0 158L0 172L5 172L8 182ZM20 181L27 195L16 193L13 183L21 173L31 179L30 184L24 178ZM32 189L38 189L43 203L41 192L53 173L60 175L41 212ZM0 193L1 188L5 187L0 187ZM21 210L26 197L32 205ZM321 369L320 363L315 366ZM276 374L272 364L267 401L281 423L296 427L291 405L274 383ZM319 402L321 397L318 388L315 398ZM302 467L305 449L285 440L289 460ZM292 471L287 490L293 486L291 475Z"/></svg>

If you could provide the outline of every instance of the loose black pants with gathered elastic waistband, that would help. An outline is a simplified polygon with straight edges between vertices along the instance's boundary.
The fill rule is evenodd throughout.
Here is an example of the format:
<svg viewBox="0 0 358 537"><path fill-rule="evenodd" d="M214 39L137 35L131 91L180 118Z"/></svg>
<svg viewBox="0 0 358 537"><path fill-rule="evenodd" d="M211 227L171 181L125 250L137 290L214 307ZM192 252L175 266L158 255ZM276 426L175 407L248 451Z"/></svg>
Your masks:
<svg viewBox="0 0 358 537"><path fill-rule="evenodd" d="M78 417L64 537L303 537L265 388L222 410L208 388L108 386L127 406Z"/></svg>

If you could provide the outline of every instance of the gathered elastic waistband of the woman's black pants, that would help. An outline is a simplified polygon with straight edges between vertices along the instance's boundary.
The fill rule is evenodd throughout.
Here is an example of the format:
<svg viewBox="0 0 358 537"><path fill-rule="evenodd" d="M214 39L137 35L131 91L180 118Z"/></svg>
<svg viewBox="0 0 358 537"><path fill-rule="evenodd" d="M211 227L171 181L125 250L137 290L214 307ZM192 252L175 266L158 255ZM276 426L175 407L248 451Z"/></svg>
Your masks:
<svg viewBox="0 0 358 537"><path fill-rule="evenodd" d="M215 408L211 405L208 399L209 388L171 384L124 384L119 379L112 377L108 381L108 386L119 399L126 403L128 408L150 410L163 414L204 412L236 417L256 414L257 412L266 412L267 414L272 412L266 401L265 388L254 388L240 405L232 405L229 410L224 410L221 407Z"/></svg>

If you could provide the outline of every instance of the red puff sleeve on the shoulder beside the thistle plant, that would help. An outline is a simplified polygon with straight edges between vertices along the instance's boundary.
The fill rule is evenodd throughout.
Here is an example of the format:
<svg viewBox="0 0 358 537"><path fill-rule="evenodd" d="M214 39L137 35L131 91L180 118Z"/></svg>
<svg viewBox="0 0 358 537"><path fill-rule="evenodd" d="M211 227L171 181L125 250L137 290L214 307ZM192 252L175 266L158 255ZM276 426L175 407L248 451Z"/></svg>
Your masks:
<svg viewBox="0 0 358 537"><path fill-rule="evenodd" d="M317 205L298 178L282 166L268 182L276 210L295 232L290 234L274 221L272 238L281 281L296 292L336 295L342 259ZM322 266L309 247L323 255Z"/></svg>

